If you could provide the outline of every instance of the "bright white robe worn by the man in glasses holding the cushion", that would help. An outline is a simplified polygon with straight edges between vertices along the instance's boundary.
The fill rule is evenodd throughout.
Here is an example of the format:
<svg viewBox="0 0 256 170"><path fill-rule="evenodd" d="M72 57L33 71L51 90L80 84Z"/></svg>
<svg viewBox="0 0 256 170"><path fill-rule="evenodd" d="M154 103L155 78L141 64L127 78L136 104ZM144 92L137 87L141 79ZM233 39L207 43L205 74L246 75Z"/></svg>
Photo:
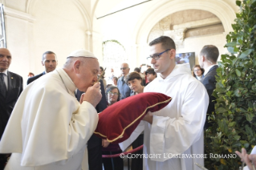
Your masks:
<svg viewBox="0 0 256 170"><path fill-rule="evenodd" d="M157 75L144 88L144 92L149 91L169 95L173 100L161 111L153 112L152 125L141 121L120 148L127 148L144 130L144 170L200 169L194 163L204 165L203 127L209 103L204 85L191 75L186 63L176 65L166 79ZM174 154L190 157L172 158Z"/></svg>

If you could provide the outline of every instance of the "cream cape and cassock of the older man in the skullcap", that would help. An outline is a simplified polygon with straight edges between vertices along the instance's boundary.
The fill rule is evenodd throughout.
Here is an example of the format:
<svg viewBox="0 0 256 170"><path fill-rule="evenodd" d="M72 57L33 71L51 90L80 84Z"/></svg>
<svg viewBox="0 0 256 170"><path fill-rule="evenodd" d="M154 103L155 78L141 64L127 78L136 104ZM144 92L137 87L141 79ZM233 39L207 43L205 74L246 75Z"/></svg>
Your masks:
<svg viewBox="0 0 256 170"><path fill-rule="evenodd" d="M1 153L12 153L6 170L87 169L99 118L91 103L75 99L75 88L59 68L22 91L0 142Z"/></svg>

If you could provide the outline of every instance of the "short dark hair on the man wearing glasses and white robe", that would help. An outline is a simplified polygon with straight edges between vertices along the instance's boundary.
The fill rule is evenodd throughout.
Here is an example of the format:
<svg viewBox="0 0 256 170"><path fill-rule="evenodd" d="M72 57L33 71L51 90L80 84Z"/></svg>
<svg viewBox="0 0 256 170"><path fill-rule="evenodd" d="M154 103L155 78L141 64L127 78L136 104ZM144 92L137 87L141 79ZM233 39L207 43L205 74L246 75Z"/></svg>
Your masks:
<svg viewBox="0 0 256 170"><path fill-rule="evenodd" d="M158 43L161 43L162 48L165 50L168 50L168 49L176 50L175 42L173 41L172 38L169 38L167 36L161 36L159 38L152 40L152 42L149 43L149 46L153 46Z"/></svg>

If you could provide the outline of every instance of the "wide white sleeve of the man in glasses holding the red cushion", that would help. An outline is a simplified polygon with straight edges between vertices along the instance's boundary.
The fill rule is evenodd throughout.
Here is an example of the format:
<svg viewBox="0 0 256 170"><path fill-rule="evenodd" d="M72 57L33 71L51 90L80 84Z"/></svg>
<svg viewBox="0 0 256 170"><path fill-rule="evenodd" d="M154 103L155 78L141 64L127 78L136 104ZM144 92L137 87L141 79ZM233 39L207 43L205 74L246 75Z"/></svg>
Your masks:
<svg viewBox="0 0 256 170"><path fill-rule="evenodd" d="M150 153L181 154L200 139L209 103L207 91L201 83L191 83L184 97L181 116L170 118L153 115ZM161 156L161 159L152 158L151 160L168 159Z"/></svg>

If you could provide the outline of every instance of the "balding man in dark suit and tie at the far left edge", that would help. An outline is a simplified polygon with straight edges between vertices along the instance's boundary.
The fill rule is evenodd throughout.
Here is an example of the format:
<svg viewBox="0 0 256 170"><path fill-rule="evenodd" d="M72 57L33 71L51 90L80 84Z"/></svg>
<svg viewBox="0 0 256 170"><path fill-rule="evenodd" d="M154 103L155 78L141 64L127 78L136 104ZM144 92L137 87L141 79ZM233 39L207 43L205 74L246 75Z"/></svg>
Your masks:
<svg viewBox="0 0 256 170"><path fill-rule="evenodd" d="M23 90L22 77L7 71L10 63L10 51L6 48L0 48L0 140L11 111ZM0 169L4 168L7 156L6 154L0 154Z"/></svg>

